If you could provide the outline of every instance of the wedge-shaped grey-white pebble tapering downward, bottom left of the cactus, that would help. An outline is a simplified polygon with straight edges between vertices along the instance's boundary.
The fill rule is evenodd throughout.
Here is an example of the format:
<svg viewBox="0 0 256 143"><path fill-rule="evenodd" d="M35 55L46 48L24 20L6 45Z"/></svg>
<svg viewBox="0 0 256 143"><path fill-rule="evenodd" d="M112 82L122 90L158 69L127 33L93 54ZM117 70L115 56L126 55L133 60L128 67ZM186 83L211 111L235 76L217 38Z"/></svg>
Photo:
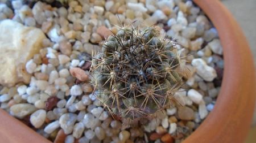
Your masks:
<svg viewBox="0 0 256 143"><path fill-rule="evenodd" d="M74 124L77 120L77 115L73 113L65 113L60 116L60 127L63 129L65 134L72 133Z"/></svg>

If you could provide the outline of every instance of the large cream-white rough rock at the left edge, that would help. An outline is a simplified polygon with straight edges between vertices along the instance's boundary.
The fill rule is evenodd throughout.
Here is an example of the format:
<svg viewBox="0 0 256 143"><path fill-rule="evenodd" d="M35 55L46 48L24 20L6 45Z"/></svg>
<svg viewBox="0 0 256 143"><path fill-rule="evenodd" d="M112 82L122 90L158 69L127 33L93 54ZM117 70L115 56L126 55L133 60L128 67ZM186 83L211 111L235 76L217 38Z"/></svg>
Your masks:
<svg viewBox="0 0 256 143"><path fill-rule="evenodd" d="M42 41L46 36L34 27L26 27L13 20L3 20L0 23L0 84L13 86L18 82L29 83L30 74L36 64L26 63L34 54L39 53Z"/></svg>

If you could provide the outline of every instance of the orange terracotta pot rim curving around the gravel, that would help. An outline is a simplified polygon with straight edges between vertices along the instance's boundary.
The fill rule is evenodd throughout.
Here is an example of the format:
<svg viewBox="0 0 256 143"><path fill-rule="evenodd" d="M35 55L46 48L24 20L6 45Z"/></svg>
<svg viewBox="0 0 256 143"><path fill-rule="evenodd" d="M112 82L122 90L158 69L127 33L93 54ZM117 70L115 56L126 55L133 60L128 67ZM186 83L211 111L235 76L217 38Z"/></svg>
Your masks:
<svg viewBox="0 0 256 143"><path fill-rule="evenodd" d="M217 28L224 48L224 78L216 106L184 143L243 142L255 101L255 70L249 45L232 15L217 0L194 0ZM0 110L1 142L50 142Z"/></svg>

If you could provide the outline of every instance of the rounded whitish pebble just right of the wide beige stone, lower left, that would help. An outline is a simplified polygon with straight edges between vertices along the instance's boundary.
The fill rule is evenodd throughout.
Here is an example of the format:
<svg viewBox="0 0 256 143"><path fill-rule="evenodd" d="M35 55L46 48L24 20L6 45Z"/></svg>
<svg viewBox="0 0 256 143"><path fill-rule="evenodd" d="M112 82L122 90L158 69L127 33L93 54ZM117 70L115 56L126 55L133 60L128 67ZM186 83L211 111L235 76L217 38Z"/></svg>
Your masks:
<svg viewBox="0 0 256 143"><path fill-rule="evenodd" d="M46 121L46 110L39 109L30 115L30 122L35 128L40 128Z"/></svg>

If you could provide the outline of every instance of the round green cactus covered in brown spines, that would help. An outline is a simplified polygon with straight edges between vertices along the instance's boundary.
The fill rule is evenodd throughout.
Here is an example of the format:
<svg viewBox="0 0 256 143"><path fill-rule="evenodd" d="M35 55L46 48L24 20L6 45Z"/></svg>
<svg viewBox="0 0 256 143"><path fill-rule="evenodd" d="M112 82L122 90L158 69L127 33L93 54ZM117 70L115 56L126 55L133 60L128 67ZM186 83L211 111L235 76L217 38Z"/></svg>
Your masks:
<svg viewBox="0 0 256 143"><path fill-rule="evenodd" d="M141 118L163 109L182 82L176 44L154 27L120 28L92 58L96 97L112 114Z"/></svg>

